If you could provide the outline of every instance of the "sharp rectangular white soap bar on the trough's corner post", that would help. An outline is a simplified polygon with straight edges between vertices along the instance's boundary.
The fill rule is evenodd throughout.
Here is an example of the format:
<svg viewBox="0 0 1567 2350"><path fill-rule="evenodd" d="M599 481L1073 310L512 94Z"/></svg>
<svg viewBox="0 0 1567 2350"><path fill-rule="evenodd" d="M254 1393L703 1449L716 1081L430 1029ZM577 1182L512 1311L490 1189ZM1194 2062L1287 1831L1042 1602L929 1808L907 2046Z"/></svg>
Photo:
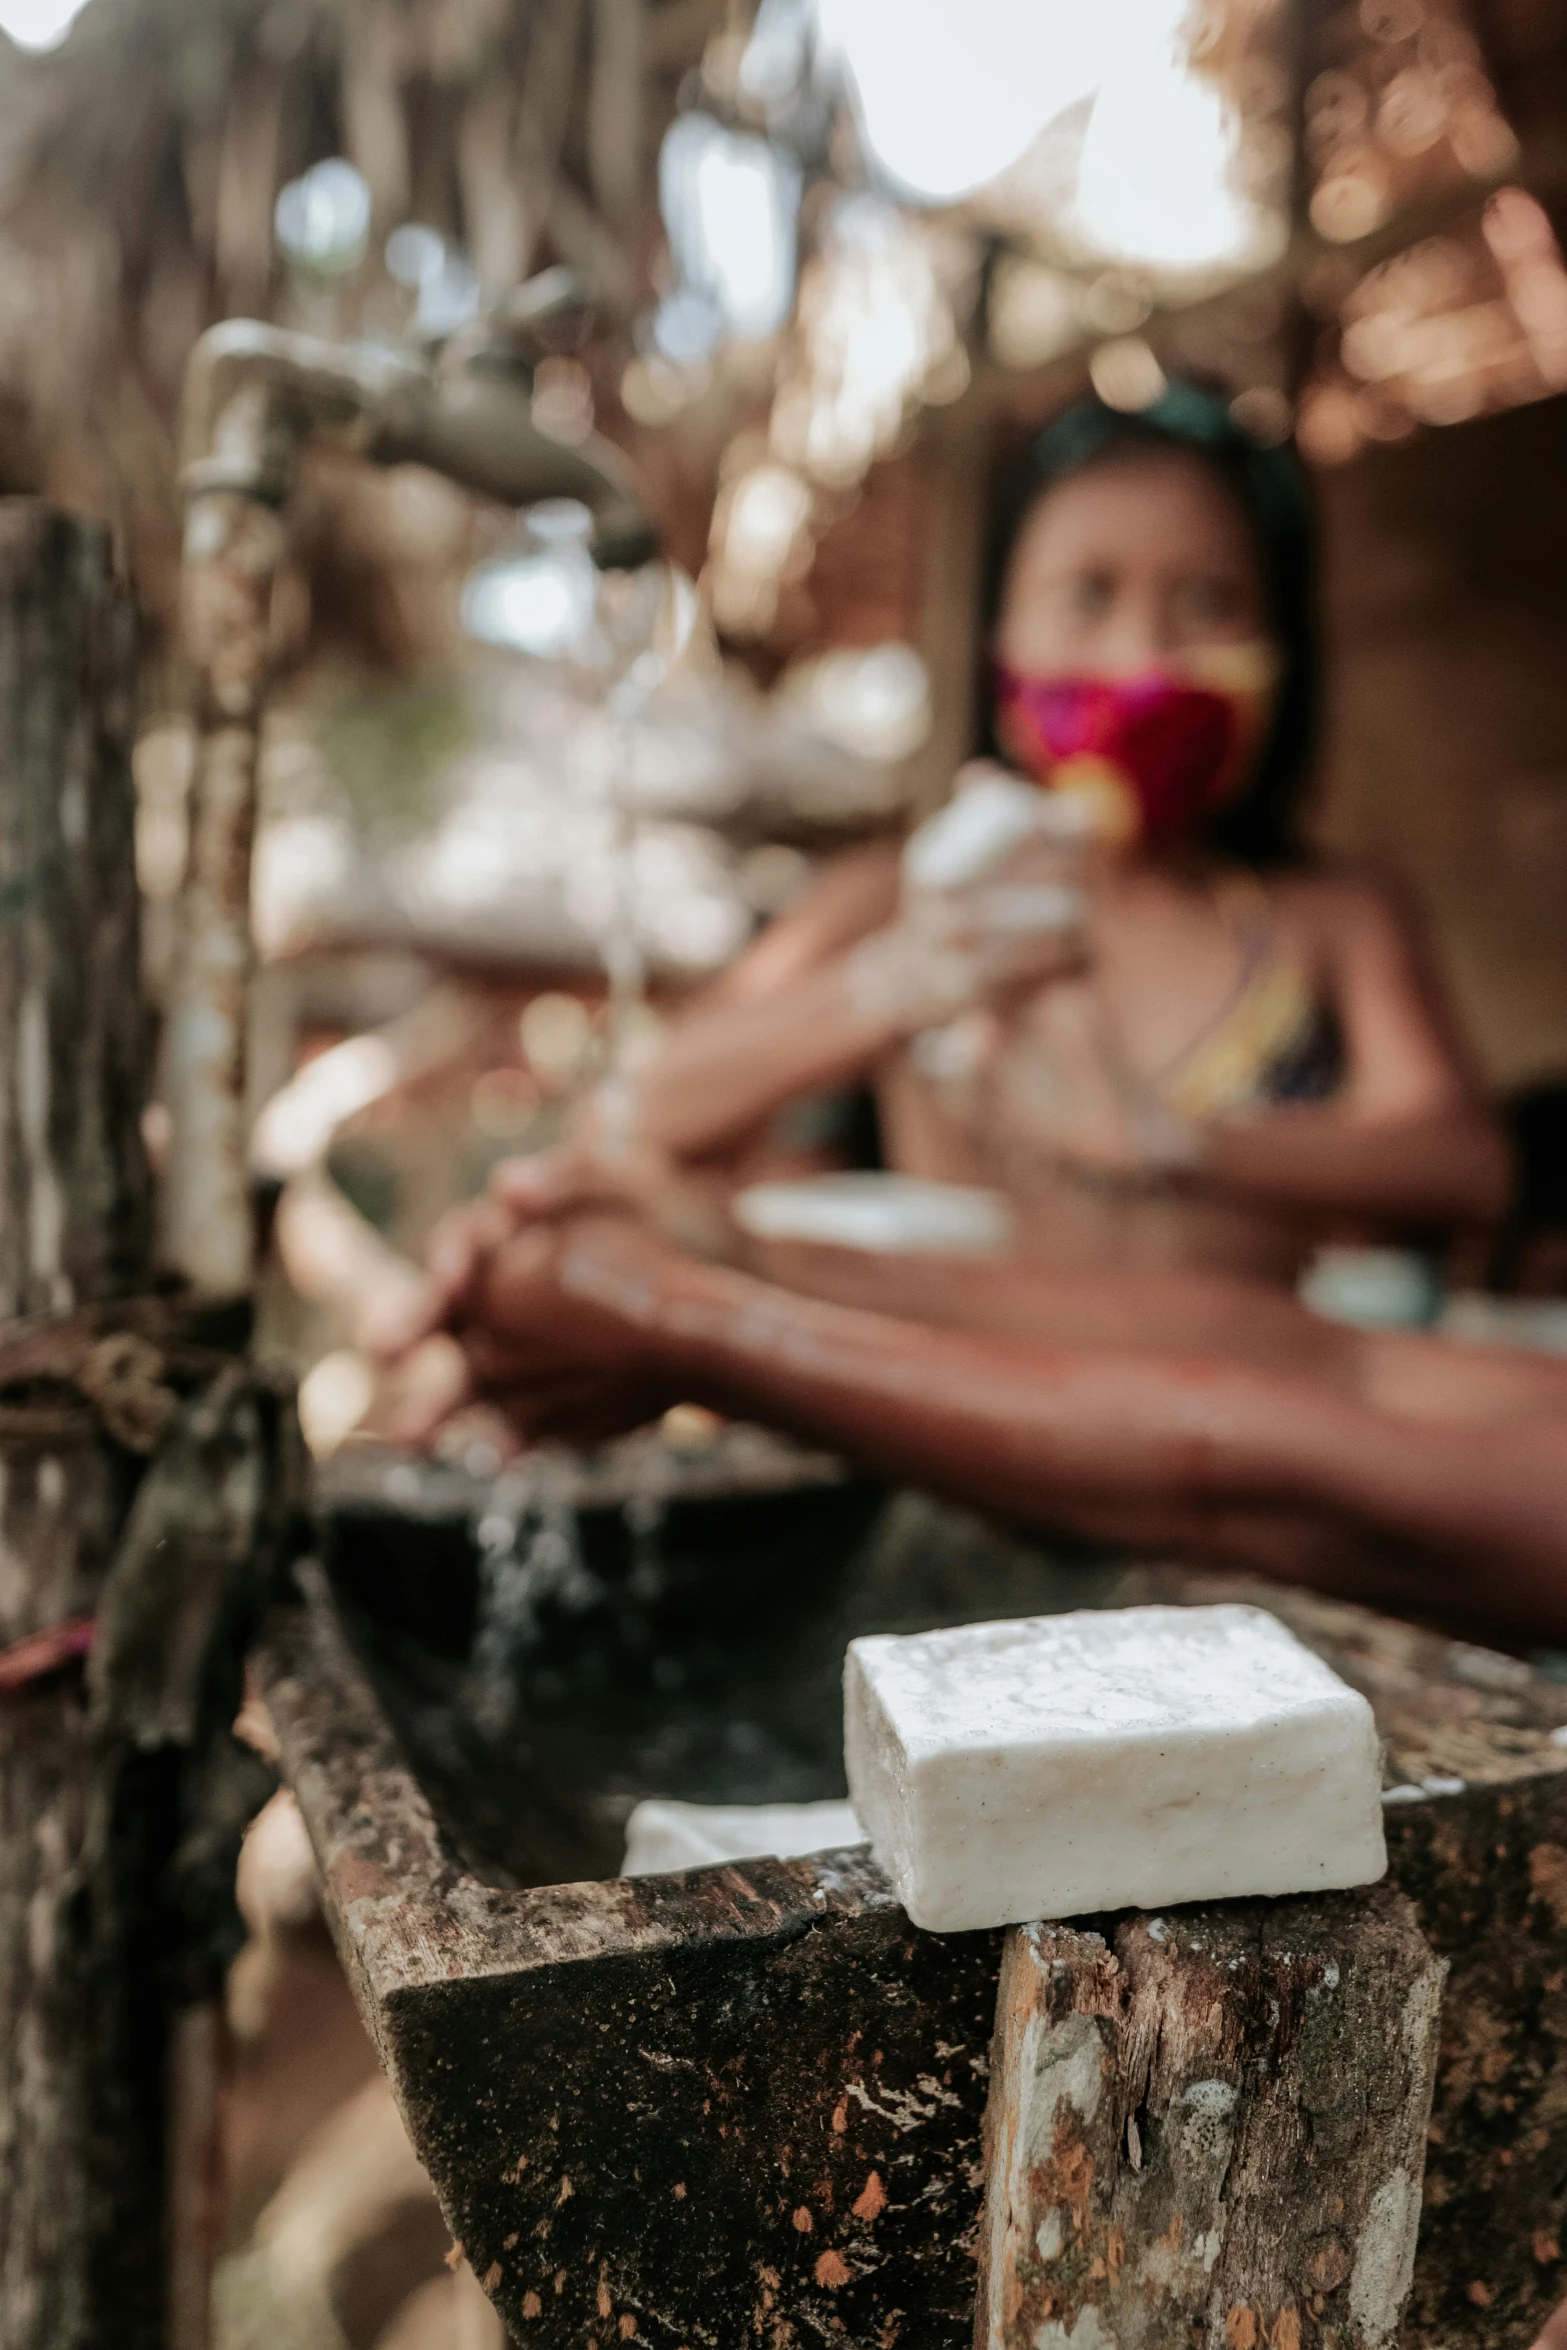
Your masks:
<svg viewBox="0 0 1567 2350"><path fill-rule="evenodd" d="M935 1934L1370 1885L1372 1708L1262 1607L853 1640L848 1793Z"/></svg>

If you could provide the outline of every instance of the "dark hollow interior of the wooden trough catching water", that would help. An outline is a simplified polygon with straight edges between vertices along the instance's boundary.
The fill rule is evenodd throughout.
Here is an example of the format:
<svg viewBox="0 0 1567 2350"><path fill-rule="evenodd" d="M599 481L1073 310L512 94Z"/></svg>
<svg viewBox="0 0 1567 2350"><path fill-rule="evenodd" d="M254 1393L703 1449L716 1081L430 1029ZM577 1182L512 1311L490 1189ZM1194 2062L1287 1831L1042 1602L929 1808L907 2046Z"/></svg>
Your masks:
<svg viewBox="0 0 1567 2350"><path fill-rule="evenodd" d="M442 1828L496 1885L613 1875L644 1795L843 1795L850 1638L1104 1605L1121 1572L1085 1546L966 1539L759 1431L498 1480L362 1459L322 1502L355 1645Z"/></svg>

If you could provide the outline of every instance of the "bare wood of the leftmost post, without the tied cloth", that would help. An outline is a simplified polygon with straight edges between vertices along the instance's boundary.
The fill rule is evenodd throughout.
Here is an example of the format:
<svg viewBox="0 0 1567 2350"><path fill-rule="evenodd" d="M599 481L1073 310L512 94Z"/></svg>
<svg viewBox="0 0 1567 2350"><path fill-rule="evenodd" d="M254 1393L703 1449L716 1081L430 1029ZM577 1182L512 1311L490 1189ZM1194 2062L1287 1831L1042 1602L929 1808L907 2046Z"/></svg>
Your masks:
<svg viewBox="0 0 1567 2350"><path fill-rule="evenodd" d="M134 646L103 531L0 503L0 1316L146 1285ZM89 1617L129 1455L0 1436L0 1645ZM0 2341L153 2350L162 1758L106 1777L80 1673L0 1697Z"/></svg>

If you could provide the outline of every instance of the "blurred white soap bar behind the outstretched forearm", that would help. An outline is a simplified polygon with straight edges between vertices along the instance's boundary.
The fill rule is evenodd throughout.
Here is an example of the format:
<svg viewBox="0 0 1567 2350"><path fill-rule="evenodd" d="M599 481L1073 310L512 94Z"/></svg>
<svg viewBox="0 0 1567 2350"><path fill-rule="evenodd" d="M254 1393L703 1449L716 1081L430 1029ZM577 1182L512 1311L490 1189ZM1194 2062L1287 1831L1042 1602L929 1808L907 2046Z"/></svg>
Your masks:
<svg viewBox="0 0 1567 2350"><path fill-rule="evenodd" d="M1003 1191L928 1182L923 1175L801 1175L754 1182L731 1215L759 1241L818 1241L876 1255L994 1257L1013 1238Z"/></svg>

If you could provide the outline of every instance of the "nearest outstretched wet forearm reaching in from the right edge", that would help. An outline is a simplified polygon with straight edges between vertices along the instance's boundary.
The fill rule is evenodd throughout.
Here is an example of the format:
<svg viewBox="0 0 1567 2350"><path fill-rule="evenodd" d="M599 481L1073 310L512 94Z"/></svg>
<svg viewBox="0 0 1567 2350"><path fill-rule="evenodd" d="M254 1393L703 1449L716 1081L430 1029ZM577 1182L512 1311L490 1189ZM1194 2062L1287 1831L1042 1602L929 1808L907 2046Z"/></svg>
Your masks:
<svg viewBox="0 0 1567 2350"><path fill-rule="evenodd" d="M1363 1528L1391 1546L1365 1549L1358 1596L1567 1631L1551 1426L1539 1459L1504 1459L1482 1426L1398 1422L1311 1377L928 1330L728 1267L648 1271L613 1241L569 1248L561 1281L634 1330L655 1391L879 1476L1034 1523L1137 1523L1156 1542L1184 1525L1198 1549L1224 1513ZM1290 1572L1318 1579L1299 1551ZM1344 1586L1339 1570L1327 1586Z"/></svg>

